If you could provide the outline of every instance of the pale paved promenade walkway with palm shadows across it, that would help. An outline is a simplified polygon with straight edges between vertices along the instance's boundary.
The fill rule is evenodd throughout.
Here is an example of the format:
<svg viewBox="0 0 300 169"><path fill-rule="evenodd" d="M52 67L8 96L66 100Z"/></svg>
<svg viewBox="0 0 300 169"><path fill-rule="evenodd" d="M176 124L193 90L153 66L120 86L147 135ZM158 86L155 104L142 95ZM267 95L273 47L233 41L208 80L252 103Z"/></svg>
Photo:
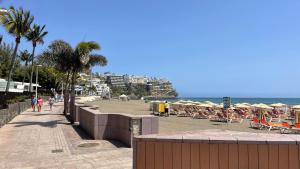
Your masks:
<svg viewBox="0 0 300 169"><path fill-rule="evenodd" d="M61 114L62 103L27 110L0 128L0 168L132 168L132 149L92 140Z"/></svg>

